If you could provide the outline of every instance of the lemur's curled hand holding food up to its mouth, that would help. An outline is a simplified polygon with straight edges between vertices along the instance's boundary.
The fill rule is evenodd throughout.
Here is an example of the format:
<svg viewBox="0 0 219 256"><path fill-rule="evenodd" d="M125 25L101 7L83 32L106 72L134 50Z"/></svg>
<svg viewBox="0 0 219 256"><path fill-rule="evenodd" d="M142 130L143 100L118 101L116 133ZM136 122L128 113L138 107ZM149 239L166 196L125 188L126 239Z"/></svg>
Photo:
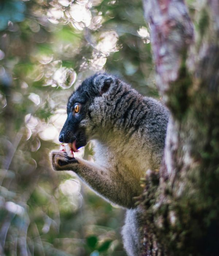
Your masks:
<svg viewBox="0 0 219 256"><path fill-rule="evenodd" d="M50 159L53 170L55 171L76 171L77 165L79 164L76 158L68 157L65 151L51 151Z"/></svg>

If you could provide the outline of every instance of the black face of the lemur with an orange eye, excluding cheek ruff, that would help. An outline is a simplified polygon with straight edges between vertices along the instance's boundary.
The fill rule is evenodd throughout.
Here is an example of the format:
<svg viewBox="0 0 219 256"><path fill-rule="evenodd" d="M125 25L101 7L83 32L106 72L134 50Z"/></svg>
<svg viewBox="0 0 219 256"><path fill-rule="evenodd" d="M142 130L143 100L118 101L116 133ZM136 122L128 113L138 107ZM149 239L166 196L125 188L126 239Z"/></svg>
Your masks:
<svg viewBox="0 0 219 256"><path fill-rule="evenodd" d="M99 87L100 79L103 79L103 88ZM67 105L68 117L60 132L59 141L64 143L72 143L73 151L83 147L92 138L94 132L95 112L98 114L98 104L95 103L97 97L110 87L112 82L108 82L103 75L95 75L86 79L80 87L70 96ZM102 90L102 91L101 91ZM104 90L104 91L103 91Z"/></svg>

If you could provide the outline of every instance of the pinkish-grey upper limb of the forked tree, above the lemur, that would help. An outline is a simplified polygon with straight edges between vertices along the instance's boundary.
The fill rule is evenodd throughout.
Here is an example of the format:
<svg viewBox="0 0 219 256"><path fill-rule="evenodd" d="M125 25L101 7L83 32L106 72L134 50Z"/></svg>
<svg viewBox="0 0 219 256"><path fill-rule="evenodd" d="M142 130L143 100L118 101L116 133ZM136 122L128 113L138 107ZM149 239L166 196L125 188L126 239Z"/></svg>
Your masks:
<svg viewBox="0 0 219 256"><path fill-rule="evenodd" d="M149 22L157 86L165 101L193 40L193 25L183 0L143 0Z"/></svg>

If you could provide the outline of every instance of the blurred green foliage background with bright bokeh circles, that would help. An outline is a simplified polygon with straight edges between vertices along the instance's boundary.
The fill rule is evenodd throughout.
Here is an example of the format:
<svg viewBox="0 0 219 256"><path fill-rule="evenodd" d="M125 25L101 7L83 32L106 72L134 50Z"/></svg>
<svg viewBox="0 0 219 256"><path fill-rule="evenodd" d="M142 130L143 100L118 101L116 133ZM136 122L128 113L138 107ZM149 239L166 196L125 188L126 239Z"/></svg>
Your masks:
<svg viewBox="0 0 219 256"><path fill-rule="evenodd" d="M69 95L99 70L159 97L141 1L0 1L0 255L126 255L124 211L49 161Z"/></svg>

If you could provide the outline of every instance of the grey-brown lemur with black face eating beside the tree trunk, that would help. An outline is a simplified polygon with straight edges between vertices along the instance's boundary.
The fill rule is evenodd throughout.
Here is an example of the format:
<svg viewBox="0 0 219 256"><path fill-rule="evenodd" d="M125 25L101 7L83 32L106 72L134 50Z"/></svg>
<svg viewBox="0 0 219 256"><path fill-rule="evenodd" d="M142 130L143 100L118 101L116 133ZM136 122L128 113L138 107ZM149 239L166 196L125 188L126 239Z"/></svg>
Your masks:
<svg viewBox="0 0 219 256"><path fill-rule="evenodd" d="M139 209L133 197L142 193L140 178L159 168L166 136L168 110L114 76L95 74L70 96L67 120L59 141L73 151L95 140L95 162L52 151L54 170L72 170L107 201L127 208L122 230L130 256L140 254Z"/></svg>

